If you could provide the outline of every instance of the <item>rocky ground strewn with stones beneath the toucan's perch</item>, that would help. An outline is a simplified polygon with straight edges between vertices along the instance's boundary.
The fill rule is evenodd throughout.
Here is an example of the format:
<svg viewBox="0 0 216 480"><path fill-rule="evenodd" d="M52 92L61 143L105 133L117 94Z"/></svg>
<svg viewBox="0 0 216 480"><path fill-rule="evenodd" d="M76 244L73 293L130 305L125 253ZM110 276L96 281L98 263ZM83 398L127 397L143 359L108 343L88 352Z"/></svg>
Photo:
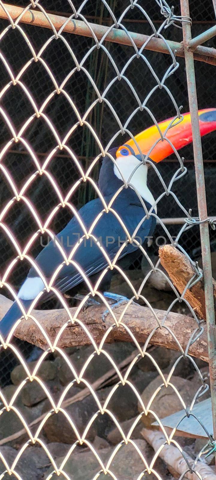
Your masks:
<svg viewBox="0 0 216 480"><path fill-rule="evenodd" d="M104 349L112 357L115 364L118 365L135 350L135 345L132 343L106 344ZM91 356L92 352L92 346L68 348L65 351L76 372L81 371L84 362ZM148 352L156 361L159 369L162 370L165 378L170 372L171 367L175 364L177 358L180 356L178 352L173 352L161 347L150 347ZM207 377L207 364L199 360L197 360L196 363L198 363L203 375ZM29 368L32 372L34 363L30 363ZM112 365L110 364L110 361L101 353L99 357L96 355L92 358L85 371L84 378L90 384L93 384L93 382L99 379L111 368ZM126 372L126 368L123 372ZM77 384L76 382L70 386L70 382L74 379L74 374L65 363L65 360L63 360L58 354L56 354L55 358L52 360L46 360L42 363L38 376L45 384L56 404L62 395L63 390L67 389L67 387L68 391L64 400L84 392L83 388L86 386L84 383ZM26 373L24 372L23 367L21 365L15 367L11 372L11 384L2 389L2 394L7 401L10 401L17 386L21 384L25 378ZM128 380L136 387L136 390L141 395L141 399L145 405L148 404L149 398L159 384L161 384L161 377L158 375L156 367L148 357L141 359L133 366L129 373ZM97 397L102 405L106 398L111 394L116 382L117 380L115 377L97 390ZM182 359L176 363L176 368L172 376L172 383L182 395L185 404L189 406L194 394L201 385L198 374L190 360ZM202 397L202 399L204 399L204 397ZM23 386L16 397L14 405L22 413L27 424L30 424L33 420L51 408L51 403L47 398L46 392L36 380L33 382L28 381ZM115 389L107 408L118 420L125 434L129 432L135 418L142 411L140 402L137 401L137 396L129 385L119 385ZM182 404L174 390L171 387L168 387L167 389L163 388L160 390L151 405L151 409L157 412L159 418L163 418L168 414L182 409ZM74 421L78 432L82 433L93 413L98 410L98 406L93 396L89 395L85 396L85 398L80 401L70 404L65 410L70 419ZM143 426L149 427L153 420L154 418L152 415L143 415L131 435L131 438L141 450L148 463L150 463L154 456L154 451L143 439L141 430ZM19 420L16 412L12 410L10 412L4 411L2 413L0 417L0 425L0 441L23 428L23 424ZM31 427L31 431L35 433L37 427L38 424ZM46 420L38 437L47 446L58 468L64 457L67 455L71 444L77 440L74 429L63 412L51 415ZM12 460L27 439L27 434L24 434L19 438L8 441L6 444L0 444L0 452L10 466ZM194 439L186 439L183 437L175 437L175 439L182 445L185 451L193 457L195 457L204 443L206 443L202 443L202 441L195 442ZM91 424L87 433L87 440L93 445L102 461L106 462L114 451L115 446L122 441L122 436L111 416L107 413L104 413L103 415L99 413ZM136 480L143 468L143 462L133 444L123 444L114 456L110 467L118 480ZM154 468L158 471L161 479L172 479L167 466L162 460L158 459ZM77 445L64 466L64 471L67 472L68 477L71 480L91 480L99 469L98 460L87 445ZM5 468L0 461L0 473L4 470ZM16 466L16 472L21 475L23 480L46 479L49 473L53 470L54 467L51 464L49 456L39 444L29 444ZM143 478L147 478L147 476L149 478L149 475L146 475ZM105 480L104 474L101 473L98 478L101 480L103 477ZM13 477L10 476L10 478ZM65 477L63 474L58 477L54 474L52 479L56 478L63 480ZM106 479L107 478L111 479L112 477L106 475ZM152 479L153 478L154 476L152 475ZM9 476L5 475L4 479L9 479Z"/></svg>

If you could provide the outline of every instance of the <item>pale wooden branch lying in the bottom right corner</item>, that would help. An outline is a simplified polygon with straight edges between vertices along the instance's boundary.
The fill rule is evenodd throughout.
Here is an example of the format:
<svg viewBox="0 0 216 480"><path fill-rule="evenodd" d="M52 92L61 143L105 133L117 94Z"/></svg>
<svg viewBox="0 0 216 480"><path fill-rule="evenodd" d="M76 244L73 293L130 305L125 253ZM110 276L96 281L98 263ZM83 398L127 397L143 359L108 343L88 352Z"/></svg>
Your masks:
<svg viewBox="0 0 216 480"><path fill-rule="evenodd" d="M141 431L141 434L145 438L145 440L154 448L155 452L157 452L160 446L166 441L165 436L162 432L155 432L153 430L147 430L144 428ZM188 465L184 460L180 450L173 444L164 445L162 450L160 450L159 452L159 456L167 464L167 467L172 475L178 473L178 478L179 475L182 475L182 473L188 470ZM194 460L185 452L184 456L187 458L189 464L193 466ZM194 467L194 470L199 473L199 477L196 473L190 473L190 471L187 471L183 478L189 480L197 480L198 478L202 478L202 480L216 480L215 470L213 470L213 468L211 468L205 462L200 462L198 460Z"/></svg>

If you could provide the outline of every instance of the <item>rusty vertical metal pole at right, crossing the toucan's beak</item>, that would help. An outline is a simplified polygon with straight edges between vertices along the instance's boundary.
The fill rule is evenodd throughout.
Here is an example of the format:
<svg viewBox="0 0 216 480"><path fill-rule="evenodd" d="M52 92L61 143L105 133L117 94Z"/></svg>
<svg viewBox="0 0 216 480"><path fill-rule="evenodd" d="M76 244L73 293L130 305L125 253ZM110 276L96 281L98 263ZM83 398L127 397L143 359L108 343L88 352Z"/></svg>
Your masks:
<svg viewBox="0 0 216 480"><path fill-rule="evenodd" d="M182 16L190 16L189 1L181 0ZM203 165L203 153L199 127L198 104L196 95L196 80L193 61L193 52L187 49L188 42L191 40L191 25L188 23L182 24L183 28L183 42L184 42L184 56L187 75L188 98L191 112L192 134L193 134L193 154L194 166L196 176L196 190L197 203L200 220L207 218L207 205L205 195L205 175ZM212 267L211 267L211 252L209 241L209 226L208 223L200 225L200 239L202 247L203 259L203 274L204 274L204 289L205 289L205 311L206 311L206 326L208 338L208 355L209 355L209 372L210 385L212 397L212 416L214 427L214 438L216 439L216 324L214 311L214 297L212 287Z"/></svg>

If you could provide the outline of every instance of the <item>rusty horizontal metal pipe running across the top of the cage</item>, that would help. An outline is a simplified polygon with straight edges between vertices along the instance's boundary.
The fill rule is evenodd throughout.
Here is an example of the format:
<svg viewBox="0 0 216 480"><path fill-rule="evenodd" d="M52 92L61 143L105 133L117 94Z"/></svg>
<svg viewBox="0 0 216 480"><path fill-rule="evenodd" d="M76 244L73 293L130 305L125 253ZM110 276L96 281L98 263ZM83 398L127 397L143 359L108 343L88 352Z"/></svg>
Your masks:
<svg viewBox="0 0 216 480"><path fill-rule="evenodd" d="M11 15L11 18L15 20L19 15L22 14L23 8L17 7L15 5L9 5L4 3L4 8ZM5 12L4 8L0 5L0 18L8 19L8 15ZM49 19L52 24L55 26L58 31L62 25L68 21L67 17L60 15L49 14ZM45 17L43 12L38 12L37 10L28 10L26 11L20 19L21 23L36 25L44 28L52 29L51 24ZM65 27L64 32L73 33L75 35L89 36L92 37L92 32L100 40L109 30L110 27L105 25L98 24L85 24L80 20L71 20ZM138 48L142 47L145 42L146 49L152 50L155 52L170 54L169 48L174 52L178 57L184 57L184 48L182 43L174 42L171 40L166 40L164 42L161 38L150 38L148 35L141 35L135 32L128 32L128 35L122 29L113 28L105 37L106 41L128 45L131 46L130 37L133 39L134 43ZM149 39L150 38L150 39ZM169 47L169 48L168 48ZM203 61L205 63L210 63L216 65L216 49L207 48L207 47L198 47L194 52L194 59L198 61Z"/></svg>

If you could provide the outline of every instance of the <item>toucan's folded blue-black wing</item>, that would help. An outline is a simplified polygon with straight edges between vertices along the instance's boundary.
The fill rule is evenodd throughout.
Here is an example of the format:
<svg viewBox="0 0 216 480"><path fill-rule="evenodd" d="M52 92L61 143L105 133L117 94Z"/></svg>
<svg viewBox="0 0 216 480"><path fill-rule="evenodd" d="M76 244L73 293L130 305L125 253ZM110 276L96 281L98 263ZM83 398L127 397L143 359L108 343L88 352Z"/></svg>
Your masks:
<svg viewBox="0 0 216 480"><path fill-rule="evenodd" d="M128 201L125 205L125 202L124 204L121 204L121 199L119 198L116 210L118 211L118 215L122 218L130 235L133 234L142 218L145 218L144 209L138 202L137 204L131 204ZM82 207L80 210L80 217L82 217L87 230L91 227L94 218L96 218L101 211L102 204L99 199L93 200L92 203L90 202ZM91 218L92 214L93 218ZM156 220L154 217L150 216L148 219L145 219L137 233L141 239L141 243L145 241L146 236L151 235L155 224ZM100 248L100 246L91 238L89 240L85 239L79 243L79 246L72 257L72 262L69 265L63 264L54 282L55 288L60 292L66 292L67 290L76 287L84 280L84 276L90 277L106 268L108 262L102 249L104 249L112 262L116 253L120 249L122 242L127 239L124 228L112 212L104 212L102 214L96 226L93 228L92 234L99 241L102 248ZM83 236L83 230L80 228L80 224L75 217L68 223L67 227L58 234L57 237L61 241L67 256L76 244L79 235L80 237ZM135 244L128 243L121 252L119 259L136 249L137 246ZM49 278L53 275L57 266L63 262L63 257L55 242L50 242L49 245L47 245L38 255L36 261L46 278ZM79 268L81 268L81 272L79 271ZM31 271L30 274L30 276L35 275ZM47 299L46 293L43 300L45 299Z"/></svg>

